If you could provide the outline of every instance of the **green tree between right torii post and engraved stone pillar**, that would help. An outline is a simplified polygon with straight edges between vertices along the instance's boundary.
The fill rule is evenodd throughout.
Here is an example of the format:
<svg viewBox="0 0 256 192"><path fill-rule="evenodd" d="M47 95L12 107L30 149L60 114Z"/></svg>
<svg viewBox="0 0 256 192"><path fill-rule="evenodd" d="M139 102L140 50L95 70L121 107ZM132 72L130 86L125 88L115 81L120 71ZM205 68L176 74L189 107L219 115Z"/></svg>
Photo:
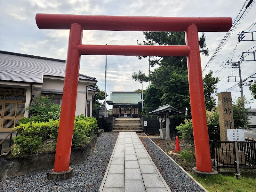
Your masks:
<svg viewBox="0 0 256 192"><path fill-rule="evenodd" d="M216 84L220 82L220 78L215 78L212 74L213 71L210 70L210 72L203 77L205 108L209 111L216 105L216 99L213 95L217 94L218 88Z"/></svg>

